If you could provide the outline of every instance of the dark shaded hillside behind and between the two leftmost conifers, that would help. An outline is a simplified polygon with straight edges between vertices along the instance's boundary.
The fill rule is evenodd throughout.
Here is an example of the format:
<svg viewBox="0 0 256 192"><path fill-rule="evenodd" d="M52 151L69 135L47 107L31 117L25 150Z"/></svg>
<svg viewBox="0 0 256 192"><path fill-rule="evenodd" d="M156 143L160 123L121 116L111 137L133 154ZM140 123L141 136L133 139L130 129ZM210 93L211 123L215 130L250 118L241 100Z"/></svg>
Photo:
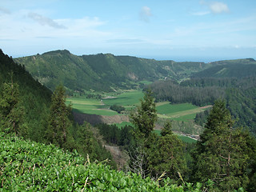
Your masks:
<svg viewBox="0 0 256 192"><path fill-rule="evenodd" d="M35 81L24 66L18 66L0 50L0 112L8 107L5 101L10 102L10 98L5 98L3 92L8 91L7 87L15 85L18 85L17 99L20 106L19 113L14 111L14 115L22 122L20 134L25 138L42 141L42 126L50 107L51 91Z"/></svg>

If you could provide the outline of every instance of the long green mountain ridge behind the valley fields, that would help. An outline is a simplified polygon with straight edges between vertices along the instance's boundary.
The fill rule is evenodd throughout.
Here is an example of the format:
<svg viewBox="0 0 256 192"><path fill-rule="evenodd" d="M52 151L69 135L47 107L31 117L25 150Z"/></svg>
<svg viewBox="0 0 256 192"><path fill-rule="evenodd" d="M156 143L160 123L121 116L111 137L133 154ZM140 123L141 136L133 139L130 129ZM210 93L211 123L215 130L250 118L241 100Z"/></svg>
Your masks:
<svg viewBox="0 0 256 192"><path fill-rule="evenodd" d="M209 66L203 62L156 61L113 54L76 56L68 50L15 58L14 61L24 65L35 79L51 90L63 83L71 91L134 88L134 82L138 85L140 81L161 78L178 81Z"/></svg>

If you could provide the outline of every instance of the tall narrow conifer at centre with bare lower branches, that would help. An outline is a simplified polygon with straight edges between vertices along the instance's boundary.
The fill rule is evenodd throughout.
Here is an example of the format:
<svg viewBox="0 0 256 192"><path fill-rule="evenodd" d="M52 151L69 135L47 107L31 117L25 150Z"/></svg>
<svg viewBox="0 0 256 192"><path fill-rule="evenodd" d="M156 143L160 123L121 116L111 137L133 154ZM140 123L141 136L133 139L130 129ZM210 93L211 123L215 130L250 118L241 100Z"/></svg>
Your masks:
<svg viewBox="0 0 256 192"><path fill-rule="evenodd" d="M130 150L130 170L146 177L150 174L147 165L147 152L154 143L154 123L157 120L154 97L151 90L146 90L141 105L130 114L130 120L134 124L134 149Z"/></svg>

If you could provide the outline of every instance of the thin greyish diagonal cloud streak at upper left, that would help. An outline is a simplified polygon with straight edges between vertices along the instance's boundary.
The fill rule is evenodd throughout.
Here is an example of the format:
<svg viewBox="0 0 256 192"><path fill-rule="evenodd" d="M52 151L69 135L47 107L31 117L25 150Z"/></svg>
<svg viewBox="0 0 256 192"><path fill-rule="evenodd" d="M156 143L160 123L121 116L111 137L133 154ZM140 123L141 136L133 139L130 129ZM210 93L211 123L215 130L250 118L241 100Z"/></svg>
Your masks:
<svg viewBox="0 0 256 192"><path fill-rule="evenodd" d="M66 29L66 26L60 25L58 24L58 22L55 22L53 19L43 17L40 14L30 12L28 16L29 18L32 18L34 21L38 22L42 26L51 26L56 29Z"/></svg>

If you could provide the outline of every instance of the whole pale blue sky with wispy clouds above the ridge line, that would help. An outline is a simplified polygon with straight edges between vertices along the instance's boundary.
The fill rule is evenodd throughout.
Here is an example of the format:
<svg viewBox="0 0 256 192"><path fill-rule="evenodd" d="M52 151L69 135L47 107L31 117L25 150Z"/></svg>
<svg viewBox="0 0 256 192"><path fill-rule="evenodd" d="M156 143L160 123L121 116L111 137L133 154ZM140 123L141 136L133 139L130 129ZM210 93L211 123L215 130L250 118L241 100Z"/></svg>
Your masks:
<svg viewBox="0 0 256 192"><path fill-rule="evenodd" d="M256 59L255 0L0 0L12 57L70 50L174 61Z"/></svg>

